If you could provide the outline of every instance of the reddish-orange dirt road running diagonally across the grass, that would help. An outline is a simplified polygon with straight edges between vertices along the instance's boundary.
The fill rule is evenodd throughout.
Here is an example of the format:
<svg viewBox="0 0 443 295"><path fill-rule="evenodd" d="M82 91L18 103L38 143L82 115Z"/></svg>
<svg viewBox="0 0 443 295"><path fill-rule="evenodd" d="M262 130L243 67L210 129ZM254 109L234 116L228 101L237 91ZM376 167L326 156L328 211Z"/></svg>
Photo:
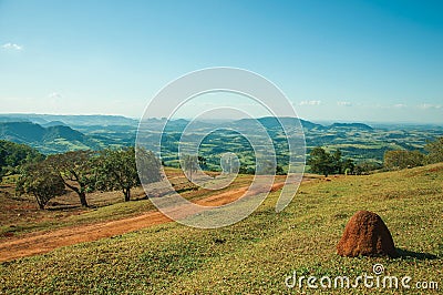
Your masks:
<svg viewBox="0 0 443 295"><path fill-rule="evenodd" d="M271 191L280 190L284 183L275 183ZM205 206L219 206L239 199L248 187L217 194L196 201ZM171 222L161 212L147 212L143 215L96 224L78 225L51 232L34 232L0 242L0 262L50 252L54 248L83 242L96 241L120 235L156 224Z"/></svg>

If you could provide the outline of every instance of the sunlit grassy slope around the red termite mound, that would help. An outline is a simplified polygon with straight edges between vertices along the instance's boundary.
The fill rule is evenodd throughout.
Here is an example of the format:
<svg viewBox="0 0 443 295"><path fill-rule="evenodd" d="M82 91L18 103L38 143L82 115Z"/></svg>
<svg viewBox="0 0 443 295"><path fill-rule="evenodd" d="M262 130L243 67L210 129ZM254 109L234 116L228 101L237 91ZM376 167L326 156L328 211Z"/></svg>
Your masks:
<svg viewBox="0 0 443 295"><path fill-rule="evenodd" d="M443 164L316 180L303 183L284 212L275 213L278 193L274 193L251 216L226 228L169 223L2 263L0 293L299 293L298 286L285 286L293 272L356 278L372 274L375 263L384 266L383 275L411 276L412 287L419 281L437 282L441 291L442 183ZM401 257L336 254L344 225L358 210L373 211L384 220ZM306 284L301 291L313 293ZM370 293L362 286L329 292Z"/></svg>

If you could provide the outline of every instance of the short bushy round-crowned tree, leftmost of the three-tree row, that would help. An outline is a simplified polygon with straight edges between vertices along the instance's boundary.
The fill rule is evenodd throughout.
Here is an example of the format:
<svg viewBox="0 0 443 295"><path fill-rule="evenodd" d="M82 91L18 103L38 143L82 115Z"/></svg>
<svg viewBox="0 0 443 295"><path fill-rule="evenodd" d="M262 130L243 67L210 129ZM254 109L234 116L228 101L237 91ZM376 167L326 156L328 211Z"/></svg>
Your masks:
<svg viewBox="0 0 443 295"><path fill-rule="evenodd" d="M51 199L64 194L64 182L59 173L40 162L23 166L16 190L19 194L32 194L43 210Z"/></svg>

